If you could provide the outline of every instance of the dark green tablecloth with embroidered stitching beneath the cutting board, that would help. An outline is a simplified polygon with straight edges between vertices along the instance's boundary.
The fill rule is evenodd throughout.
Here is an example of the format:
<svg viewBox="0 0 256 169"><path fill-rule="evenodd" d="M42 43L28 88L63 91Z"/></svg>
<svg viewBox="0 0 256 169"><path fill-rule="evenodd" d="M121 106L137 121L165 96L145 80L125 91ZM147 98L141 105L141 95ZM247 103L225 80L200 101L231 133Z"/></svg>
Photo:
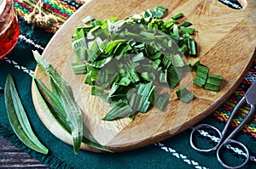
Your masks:
<svg viewBox="0 0 256 169"><path fill-rule="evenodd" d="M45 1L48 2L48 1ZM67 3L67 7L79 8L79 3L74 1L57 1ZM16 8L20 8L18 3ZM25 8L25 7L24 7ZM23 9L24 9L23 8ZM57 8L57 7L54 7ZM21 11L22 12L22 11ZM222 168L216 159L216 155L202 155L190 147L189 134L190 129L169 138L161 143L153 144L142 149L131 150L116 154L96 154L87 151L79 151L79 155L74 155L73 147L62 143L55 138L44 127L38 118L32 103L31 83L32 79L28 72L36 67L32 57L32 49L43 52L53 33L44 30L31 29L22 18L20 12L20 40L14 50L7 58L0 60L0 87L4 87L7 74L11 74L15 79L15 84L20 93L20 99L26 109L32 128L39 140L49 148L49 155L41 155L32 149L27 148L15 136L9 125L8 116L5 110L3 91L0 92L0 135L8 139L20 149L23 149L35 159L43 161L51 168ZM68 16L67 16L68 17ZM232 94L230 99L224 105L218 108L212 115L209 115L201 123L212 124L222 129L227 117L230 115L233 104L241 99L241 95L247 90L247 87L256 79L256 61L254 61L251 70L248 72L244 82ZM241 110L241 115L247 113L247 109ZM237 117L234 126L239 123L241 117ZM253 156L256 155L256 125L255 118L247 125L247 128L240 132L236 140L245 144L250 149ZM230 156L230 160L234 157ZM256 168L255 164L250 163L247 168Z"/></svg>

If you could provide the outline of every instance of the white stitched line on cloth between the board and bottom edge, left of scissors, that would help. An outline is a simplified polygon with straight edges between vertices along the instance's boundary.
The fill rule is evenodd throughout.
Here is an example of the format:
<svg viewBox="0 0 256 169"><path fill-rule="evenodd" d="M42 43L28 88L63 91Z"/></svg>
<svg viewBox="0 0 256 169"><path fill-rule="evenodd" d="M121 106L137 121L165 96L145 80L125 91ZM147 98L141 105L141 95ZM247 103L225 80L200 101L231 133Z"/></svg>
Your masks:
<svg viewBox="0 0 256 169"><path fill-rule="evenodd" d="M177 153L175 149L172 149L172 148L170 148L170 147L166 147L165 144L157 143L157 144L154 144L154 145L160 147L160 149L163 149L163 150L165 150L165 151L168 152L168 153L171 153L171 154L172 154L173 156L175 156L177 159L181 159L182 161L186 162L187 164L192 165L192 166L195 166L196 169L207 169L206 166L200 166L200 165L198 164L198 162L193 161L193 160L189 160L186 155Z"/></svg>

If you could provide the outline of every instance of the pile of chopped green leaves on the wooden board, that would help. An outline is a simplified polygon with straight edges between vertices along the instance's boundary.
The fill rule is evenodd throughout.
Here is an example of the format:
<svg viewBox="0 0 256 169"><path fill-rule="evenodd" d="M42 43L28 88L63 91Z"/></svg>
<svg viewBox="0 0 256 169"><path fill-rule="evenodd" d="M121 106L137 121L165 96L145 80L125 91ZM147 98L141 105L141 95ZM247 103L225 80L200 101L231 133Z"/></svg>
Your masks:
<svg viewBox="0 0 256 169"><path fill-rule="evenodd" d="M170 21L160 20L166 11L158 6L125 20L95 20L87 16L84 26L77 27L72 40L76 55L73 70L87 73L84 83L91 86L91 94L111 105L103 120L125 116L133 119L138 112L146 113L151 104L165 110L170 95L164 88L177 87L183 74L192 70L183 56L197 56L191 37L195 29L189 27L192 24L188 21L178 22L182 13L173 15ZM195 71L198 65L203 66L194 65ZM207 76L203 78L207 80ZM207 86L200 75L195 78L195 84L218 90L218 85L211 82ZM185 87L177 92L178 98L183 96L183 90L186 99L182 101L195 98Z"/></svg>

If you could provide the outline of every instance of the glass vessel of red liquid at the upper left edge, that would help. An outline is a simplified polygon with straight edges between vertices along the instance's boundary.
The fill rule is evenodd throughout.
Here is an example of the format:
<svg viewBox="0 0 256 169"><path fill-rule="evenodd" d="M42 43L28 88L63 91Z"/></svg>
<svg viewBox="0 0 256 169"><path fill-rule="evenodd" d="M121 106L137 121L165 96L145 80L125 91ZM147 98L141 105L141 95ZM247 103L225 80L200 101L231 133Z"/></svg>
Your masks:
<svg viewBox="0 0 256 169"><path fill-rule="evenodd" d="M15 47L20 26L13 0L0 0L0 59Z"/></svg>

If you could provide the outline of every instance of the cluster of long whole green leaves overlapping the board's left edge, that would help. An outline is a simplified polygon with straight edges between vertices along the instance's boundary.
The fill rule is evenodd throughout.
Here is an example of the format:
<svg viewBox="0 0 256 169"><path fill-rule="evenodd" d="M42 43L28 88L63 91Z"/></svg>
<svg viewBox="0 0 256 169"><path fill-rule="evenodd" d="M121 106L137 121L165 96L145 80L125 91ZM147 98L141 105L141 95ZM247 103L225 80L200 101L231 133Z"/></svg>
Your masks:
<svg viewBox="0 0 256 169"><path fill-rule="evenodd" d="M49 111L64 130L73 136L73 147L75 153L78 153L81 142L88 144L90 147L95 149L112 152L99 144L96 139L93 138L89 129L83 126L82 113L79 109L79 105L75 102L72 89L69 87L67 82L44 58L42 58L40 54L38 54L37 51L33 51L33 54L38 65L49 76L52 92L49 91L49 89L45 87L36 76L31 75L34 87L36 87L38 96L42 100L46 110ZM43 95L38 90L38 87L44 91L51 101L51 104L47 99L44 99ZM83 129L84 132L86 132L86 138L83 135Z"/></svg>

